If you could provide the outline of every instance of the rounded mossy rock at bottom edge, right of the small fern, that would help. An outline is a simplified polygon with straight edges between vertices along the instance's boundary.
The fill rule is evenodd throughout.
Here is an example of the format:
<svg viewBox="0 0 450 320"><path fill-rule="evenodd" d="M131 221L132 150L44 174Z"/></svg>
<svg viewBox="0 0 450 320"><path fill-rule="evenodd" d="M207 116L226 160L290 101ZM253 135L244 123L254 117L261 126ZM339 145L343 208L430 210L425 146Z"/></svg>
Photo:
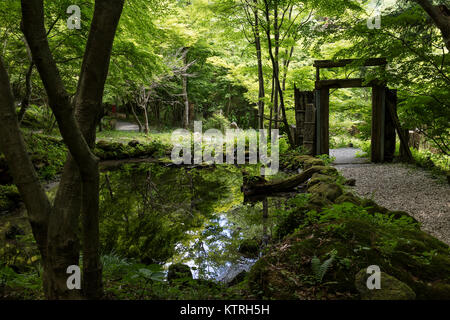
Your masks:
<svg viewBox="0 0 450 320"><path fill-rule="evenodd" d="M365 269L358 272L355 277L355 286L362 300L414 300L416 298L416 294L410 287L384 272L380 272L380 289L370 290L367 287L369 277L370 274L367 274Z"/></svg>

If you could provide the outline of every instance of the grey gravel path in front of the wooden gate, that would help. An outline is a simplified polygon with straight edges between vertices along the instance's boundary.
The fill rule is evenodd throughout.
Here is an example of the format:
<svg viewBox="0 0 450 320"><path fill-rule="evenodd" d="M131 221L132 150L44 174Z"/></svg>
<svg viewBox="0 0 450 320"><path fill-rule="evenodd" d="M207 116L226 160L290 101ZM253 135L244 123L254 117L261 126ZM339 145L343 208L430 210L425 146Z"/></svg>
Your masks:
<svg viewBox="0 0 450 320"><path fill-rule="evenodd" d="M342 151L343 152L343 151ZM450 186L425 170L403 164L335 164L344 177L356 179L357 194L389 210L406 211L422 230L450 245Z"/></svg>

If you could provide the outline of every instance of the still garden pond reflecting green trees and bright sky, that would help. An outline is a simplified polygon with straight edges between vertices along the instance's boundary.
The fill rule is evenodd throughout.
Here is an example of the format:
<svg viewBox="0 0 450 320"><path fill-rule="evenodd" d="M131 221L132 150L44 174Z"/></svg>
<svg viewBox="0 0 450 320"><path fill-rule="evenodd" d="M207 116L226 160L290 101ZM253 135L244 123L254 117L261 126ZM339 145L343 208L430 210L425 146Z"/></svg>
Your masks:
<svg viewBox="0 0 450 320"><path fill-rule="evenodd" d="M232 280L257 260L287 199L244 202L242 181L241 168L235 166L141 163L102 173L102 253L165 269L183 263L194 278Z"/></svg>

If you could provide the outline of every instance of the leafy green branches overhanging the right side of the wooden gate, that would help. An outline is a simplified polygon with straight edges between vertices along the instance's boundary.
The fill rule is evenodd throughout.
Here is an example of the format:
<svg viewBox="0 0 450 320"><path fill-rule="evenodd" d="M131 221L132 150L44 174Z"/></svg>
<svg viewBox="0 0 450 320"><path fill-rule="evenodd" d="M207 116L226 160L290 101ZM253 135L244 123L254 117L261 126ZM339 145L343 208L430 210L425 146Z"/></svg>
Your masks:
<svg viewBox="0 0 450 320"><path fill-rule="evenodd" d="M441 32L414 1L397 1L383 9L382 30L370 30L361 20L335 33L333 41L351 45L341 47L334 57L373 57L374 53L386 57L390 68L366 70L363 75L398 89L402 125L424 130L436 148L448 153L450 56Z"/></svg>

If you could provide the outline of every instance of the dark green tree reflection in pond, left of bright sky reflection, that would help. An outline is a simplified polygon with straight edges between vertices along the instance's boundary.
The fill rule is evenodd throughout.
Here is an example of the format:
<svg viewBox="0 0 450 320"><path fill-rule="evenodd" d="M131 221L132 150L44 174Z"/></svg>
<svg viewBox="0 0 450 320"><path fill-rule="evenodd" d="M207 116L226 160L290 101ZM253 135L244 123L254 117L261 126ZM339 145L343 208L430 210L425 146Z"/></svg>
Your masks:
<svg viewBox="0 0 450 320"><path fill-rule="evenodd" d="M177 243L192 238L214 207L229 197L226 174L211 170L129 165L104 174L102 249L163 263Z"/></svg>

